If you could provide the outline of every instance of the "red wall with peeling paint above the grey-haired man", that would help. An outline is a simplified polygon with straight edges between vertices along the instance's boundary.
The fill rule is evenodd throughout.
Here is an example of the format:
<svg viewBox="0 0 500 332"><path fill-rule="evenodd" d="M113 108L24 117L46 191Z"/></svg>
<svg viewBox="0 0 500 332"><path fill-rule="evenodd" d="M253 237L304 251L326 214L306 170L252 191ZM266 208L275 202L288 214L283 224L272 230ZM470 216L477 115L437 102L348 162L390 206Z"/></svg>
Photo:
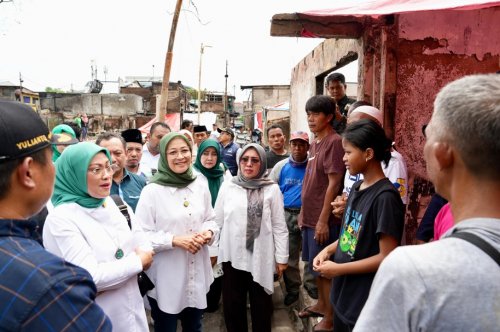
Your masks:
<svg viewBox="0 0 500 332"><path fill-rule="evenodd" d="M408 169L426 178L422 125L439 90L459 77L500 64L500 8L399 16L396 143Z"/></svg>

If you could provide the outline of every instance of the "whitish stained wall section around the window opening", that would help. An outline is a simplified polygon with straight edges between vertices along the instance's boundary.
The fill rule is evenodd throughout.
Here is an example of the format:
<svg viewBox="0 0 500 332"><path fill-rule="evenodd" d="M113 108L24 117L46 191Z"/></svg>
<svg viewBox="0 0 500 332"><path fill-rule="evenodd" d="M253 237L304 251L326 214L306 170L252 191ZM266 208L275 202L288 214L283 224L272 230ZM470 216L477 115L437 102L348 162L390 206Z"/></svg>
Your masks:
<svg viewBox="0 0 500 332"><path fill-rule="evenodd" d="M340 68L357 54L362 58L361 41L354 39L327 39L318 45L292 70L290 82L290 130L309 131L305 105L309 98L316 95L316 77L324 76L332 69ZM360 61L361 63L361 61ZM322 82L322 80L320 80ZM358 84L358 90L360 84Z"/></svg>

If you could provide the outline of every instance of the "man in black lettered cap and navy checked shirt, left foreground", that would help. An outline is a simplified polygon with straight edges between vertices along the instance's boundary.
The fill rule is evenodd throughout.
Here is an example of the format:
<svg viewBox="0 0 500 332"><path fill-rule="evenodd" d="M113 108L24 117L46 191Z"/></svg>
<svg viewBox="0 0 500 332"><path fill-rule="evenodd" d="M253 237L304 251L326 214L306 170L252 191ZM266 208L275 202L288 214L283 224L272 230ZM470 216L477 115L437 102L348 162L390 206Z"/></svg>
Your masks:
<svg viewBox="0 0 500 332"><path fill-rule="evenodd" d="M54 186L50 136L29 106L0 101L0 330L111 331L90 274L32 238Z"/></svg>

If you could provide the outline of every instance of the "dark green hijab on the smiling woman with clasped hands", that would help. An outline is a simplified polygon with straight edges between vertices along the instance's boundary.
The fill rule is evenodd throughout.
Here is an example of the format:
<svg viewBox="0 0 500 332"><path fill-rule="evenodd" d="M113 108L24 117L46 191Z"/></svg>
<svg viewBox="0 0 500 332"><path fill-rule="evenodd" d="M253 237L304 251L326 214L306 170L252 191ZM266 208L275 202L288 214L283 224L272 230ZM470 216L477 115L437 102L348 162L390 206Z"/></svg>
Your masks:
<svg viewBox="0 0 500 332"><path fill-rule="evenodd" d="M153 176L153 179L151 179L152 183L157 183L162 186L168 187L184 188L196 179L196 175L193 174L193 168L191 167L191 165L189 166L187 171L182 174L174 173L168 166L167 155L165 151L167 150L170 141L174 138L179 137L186 141L189 150L191 151L191 153L193 152L193 148L186 136L176 132L172 132L168 135L163 136L160 141L160 161L158 162L158 172L156 172L156 174Z"/></svg>

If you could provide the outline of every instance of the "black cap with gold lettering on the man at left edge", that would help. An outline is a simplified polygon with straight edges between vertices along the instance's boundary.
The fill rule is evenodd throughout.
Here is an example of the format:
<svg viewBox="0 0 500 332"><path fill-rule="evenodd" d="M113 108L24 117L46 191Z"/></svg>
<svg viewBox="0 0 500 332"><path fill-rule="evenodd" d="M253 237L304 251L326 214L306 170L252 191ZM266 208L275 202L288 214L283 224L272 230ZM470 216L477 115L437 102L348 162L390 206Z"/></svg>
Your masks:
<svg viewBox="0 0 500 332"><path fill-rule="evenodd" d="M0 101L0 162L29 156L52 143L52 134L27 105Z"/></svg>

